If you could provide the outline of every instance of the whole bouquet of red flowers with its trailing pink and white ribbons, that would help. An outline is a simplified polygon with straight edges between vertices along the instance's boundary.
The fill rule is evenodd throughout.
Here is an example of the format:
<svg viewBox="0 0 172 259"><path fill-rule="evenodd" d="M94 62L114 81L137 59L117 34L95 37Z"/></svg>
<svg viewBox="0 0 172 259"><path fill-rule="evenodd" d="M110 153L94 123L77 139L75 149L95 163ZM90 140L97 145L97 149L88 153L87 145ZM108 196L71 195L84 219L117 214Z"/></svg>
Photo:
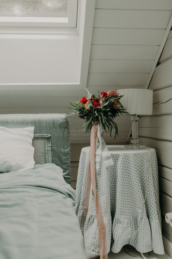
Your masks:
<svg viewBox="0 0 172 259"><path fill-rule="evenodd" d="M87 90L87 89L86 89ZM118 136L118 126L114 119L120 114L128 114L122 106L119 96L115 91L101 92L101 94L91 94L88 90L87 98L83 97L79 101L73 101L71 108L74 115L78 114L80 118L85 120L86 132L91 131L90 150L89 150L89 166L87 175L86 198L85 198L85 214L88 213L89 195L92 190L95 199L95 213L97 218L97 227L99 235L100 259L107 258L106 249L106 229L101 214L101 206L99 203L96 189L96 172L99 171L100 159L102 156L105 166L114 164L111 154L108 152L105 141L102 137L103 129L110 131L115 130L115 137ZM114 137L114 138L115 138Z"/></svg>

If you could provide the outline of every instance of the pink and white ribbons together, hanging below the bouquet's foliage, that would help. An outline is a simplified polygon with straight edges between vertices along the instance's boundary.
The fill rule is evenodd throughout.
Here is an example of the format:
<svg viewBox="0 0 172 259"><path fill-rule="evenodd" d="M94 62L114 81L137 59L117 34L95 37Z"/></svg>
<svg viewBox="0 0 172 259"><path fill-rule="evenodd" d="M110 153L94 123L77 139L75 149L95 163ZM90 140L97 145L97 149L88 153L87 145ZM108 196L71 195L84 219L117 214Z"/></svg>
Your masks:
<svg viewBox="0 0 172 259"><path fill-rule="evenodd" d="M102 134L102 126L97 122L95 122L93 127L91 128L89 167L88 167L86 199L85 199L85 214L88 213L89 196L90 196L90 190L91 190L91 184L92 184L94 199L95 199L95 213L96 213L96 219L97 219L98 235L99 235L100 259L107 259L108 257L107 257L107 249L106 249L106 228L103 221L103 216L101 214L101 207L100 207L99 198L97 195L96 170L99 169L99 161L100 161L101 155L103 156L103 161L105 162L106 166L113 165L114 163L112 161L111 155L108 153L107 146L101 134ZM98 147L97 147L97 139L99 139Z"/></svg>

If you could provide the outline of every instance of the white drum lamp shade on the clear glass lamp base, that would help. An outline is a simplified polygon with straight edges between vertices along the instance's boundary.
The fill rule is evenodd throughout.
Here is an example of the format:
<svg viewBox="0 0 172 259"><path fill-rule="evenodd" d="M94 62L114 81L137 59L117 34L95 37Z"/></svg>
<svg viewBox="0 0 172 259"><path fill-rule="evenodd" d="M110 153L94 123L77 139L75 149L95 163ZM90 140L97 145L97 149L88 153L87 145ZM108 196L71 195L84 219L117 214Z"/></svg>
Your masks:
<svg viewBox="0 0 172 259"><path fill-rule="evenodd" d="M152 115L153 90L149 89L119 89L119 96L124 95L120 102L130 114Z"/></svg>

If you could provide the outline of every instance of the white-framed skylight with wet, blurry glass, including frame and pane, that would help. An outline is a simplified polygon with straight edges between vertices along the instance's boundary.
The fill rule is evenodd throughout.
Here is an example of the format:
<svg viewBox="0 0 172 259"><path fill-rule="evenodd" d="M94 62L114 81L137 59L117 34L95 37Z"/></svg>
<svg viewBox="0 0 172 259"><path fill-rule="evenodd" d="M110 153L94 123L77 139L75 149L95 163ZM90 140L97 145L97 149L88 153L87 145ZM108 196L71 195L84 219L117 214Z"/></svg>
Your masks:
<svg viewBox="0 0 172 259"><path fill-rule="evenodd" d="M0 26L76 27L78 0L0 0Z"/></svg>

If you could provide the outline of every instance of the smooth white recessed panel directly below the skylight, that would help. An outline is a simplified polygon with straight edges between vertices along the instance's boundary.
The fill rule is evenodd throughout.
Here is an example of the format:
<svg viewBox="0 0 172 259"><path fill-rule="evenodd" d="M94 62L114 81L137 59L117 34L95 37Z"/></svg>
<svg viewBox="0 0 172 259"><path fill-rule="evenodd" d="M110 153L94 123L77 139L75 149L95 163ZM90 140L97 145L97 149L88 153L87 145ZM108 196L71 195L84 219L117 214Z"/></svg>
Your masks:
<svg viewBox="0 0 172 259"><path fill-rule="evenodd" d="M78 48L78 35L0 35L0 83L79 83Z"/></svg>

